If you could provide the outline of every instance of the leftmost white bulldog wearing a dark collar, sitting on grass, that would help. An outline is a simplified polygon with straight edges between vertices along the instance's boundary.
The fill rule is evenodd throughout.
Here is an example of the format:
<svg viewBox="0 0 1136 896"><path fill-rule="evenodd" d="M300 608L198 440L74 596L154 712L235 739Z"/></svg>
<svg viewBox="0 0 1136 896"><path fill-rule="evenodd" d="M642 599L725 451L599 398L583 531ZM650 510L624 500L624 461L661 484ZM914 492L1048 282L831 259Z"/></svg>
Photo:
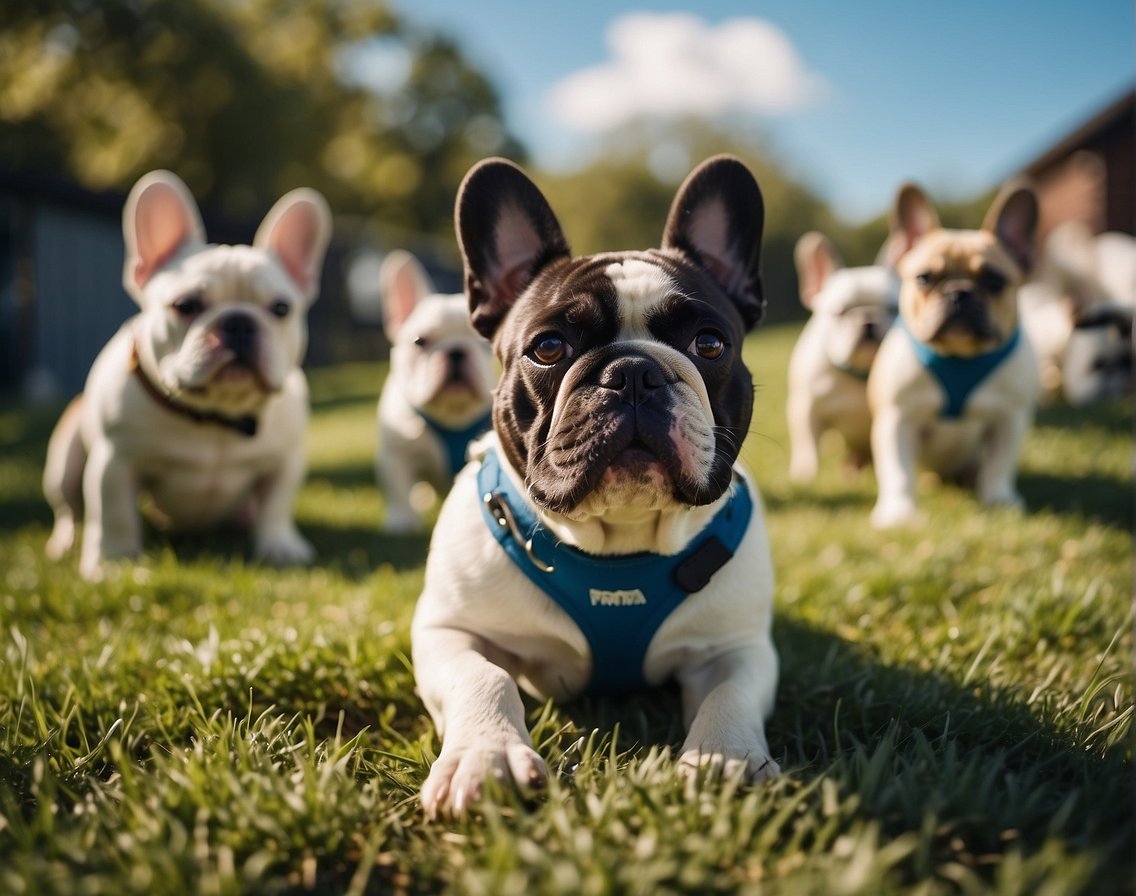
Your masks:
<svg viewBox="0 0 1136 896"><path fill-rule="evenodd" d="M99 352L48 445L48 554L83 520L80 571L142 550L157 524L249 524L256 556L307 563L292 504L306 469L309 305L331 237L323 196L294 190L249 245L208 245L193 196L169 171L135 184L123 212L123 282L141 307Z"/></svg>

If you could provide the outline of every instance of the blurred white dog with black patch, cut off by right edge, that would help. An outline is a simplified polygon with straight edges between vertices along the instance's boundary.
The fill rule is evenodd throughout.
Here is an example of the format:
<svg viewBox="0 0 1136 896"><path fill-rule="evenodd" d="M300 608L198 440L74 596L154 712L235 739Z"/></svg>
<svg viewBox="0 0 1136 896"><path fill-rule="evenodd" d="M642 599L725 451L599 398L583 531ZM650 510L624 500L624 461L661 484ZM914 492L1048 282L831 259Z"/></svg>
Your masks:
<svg viewBox="0 0 1136 896"><path fill-rule="evenodd" d="M1064 221L1045 241L1037 276L1020 291L1037 352L1042 399L1077 407L1133 391L1136 240Z"/></svg>

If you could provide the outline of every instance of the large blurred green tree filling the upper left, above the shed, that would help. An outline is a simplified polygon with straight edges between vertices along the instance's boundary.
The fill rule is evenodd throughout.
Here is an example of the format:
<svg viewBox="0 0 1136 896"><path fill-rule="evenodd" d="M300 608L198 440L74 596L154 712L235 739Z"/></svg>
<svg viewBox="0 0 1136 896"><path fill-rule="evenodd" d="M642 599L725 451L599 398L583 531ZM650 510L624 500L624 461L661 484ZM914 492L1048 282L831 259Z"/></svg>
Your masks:
<svg viewBox="0 0 1136 896"><path fill-rule="evenodd" d="M376 89L360 70L384 53L408 61ZM524 156L485 77L375 0L5 3L0 132L0 165L92 189L166 167L244 217L307 184L451 238L469 165Z"/></svg>

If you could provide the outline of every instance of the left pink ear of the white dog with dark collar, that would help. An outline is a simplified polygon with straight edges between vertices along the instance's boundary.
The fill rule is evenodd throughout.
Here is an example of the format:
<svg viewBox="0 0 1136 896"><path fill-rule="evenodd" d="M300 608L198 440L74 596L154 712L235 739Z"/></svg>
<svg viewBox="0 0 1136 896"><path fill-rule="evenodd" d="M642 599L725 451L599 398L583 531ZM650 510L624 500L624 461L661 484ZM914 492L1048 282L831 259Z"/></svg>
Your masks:
<svg viewBox="0 0 1136 896"><path fill-rule="evenodd" d="M150 278L186 245L203 245L206 228L189 187L173 171L150 171L126 198L123 208L126 260L123 285L142 303Z"/></svg>

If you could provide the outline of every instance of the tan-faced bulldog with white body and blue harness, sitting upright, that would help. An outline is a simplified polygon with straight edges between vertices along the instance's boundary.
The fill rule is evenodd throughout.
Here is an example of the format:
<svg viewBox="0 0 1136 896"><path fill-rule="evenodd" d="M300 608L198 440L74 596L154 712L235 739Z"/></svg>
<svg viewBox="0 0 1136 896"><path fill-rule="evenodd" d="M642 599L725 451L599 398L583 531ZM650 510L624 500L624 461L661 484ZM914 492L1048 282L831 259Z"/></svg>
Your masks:
<svg viewBox="0 0 1136 896"><path fill-rule="evenodd" d="M868 378L878 499L871 520L917 517L916 471L975 477L984 504L1020 505L1018 454L1039 383L1018 324L1037 199L1009 184L977 231L939 226L913 184L899 191L888 245L897 248L900 319Z"/></svg>

